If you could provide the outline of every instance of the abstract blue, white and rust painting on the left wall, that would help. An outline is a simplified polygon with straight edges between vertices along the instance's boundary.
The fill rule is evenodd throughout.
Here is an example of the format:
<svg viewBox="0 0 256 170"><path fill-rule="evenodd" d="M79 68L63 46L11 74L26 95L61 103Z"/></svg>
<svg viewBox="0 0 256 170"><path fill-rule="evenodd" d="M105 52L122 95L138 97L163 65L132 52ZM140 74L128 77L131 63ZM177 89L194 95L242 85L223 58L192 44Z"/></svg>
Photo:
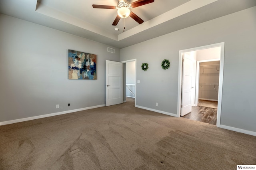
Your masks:
<svg viewBox="0 0 256 170"><path fill-rule="evenodd" d="M96 55L69 49L68 79L96 80Z"/></svg>

